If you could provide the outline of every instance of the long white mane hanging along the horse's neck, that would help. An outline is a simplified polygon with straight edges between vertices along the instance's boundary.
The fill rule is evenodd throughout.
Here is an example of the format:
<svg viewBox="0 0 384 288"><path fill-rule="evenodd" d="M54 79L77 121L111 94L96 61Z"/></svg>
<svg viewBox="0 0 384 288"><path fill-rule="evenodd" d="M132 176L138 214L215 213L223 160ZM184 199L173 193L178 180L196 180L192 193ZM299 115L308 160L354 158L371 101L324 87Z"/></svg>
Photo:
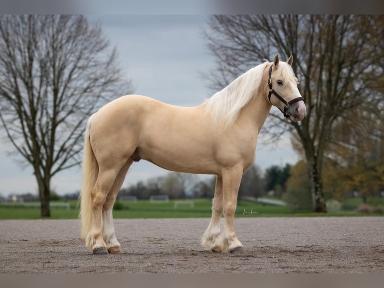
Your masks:
<svg viewBox="0 0 384 288"><path fill-rule="evenodd" d="M206 113L212 115L214 126L228 128L235 123L241 109L257 94L268 63L250 69L206 100Z"/></svg>

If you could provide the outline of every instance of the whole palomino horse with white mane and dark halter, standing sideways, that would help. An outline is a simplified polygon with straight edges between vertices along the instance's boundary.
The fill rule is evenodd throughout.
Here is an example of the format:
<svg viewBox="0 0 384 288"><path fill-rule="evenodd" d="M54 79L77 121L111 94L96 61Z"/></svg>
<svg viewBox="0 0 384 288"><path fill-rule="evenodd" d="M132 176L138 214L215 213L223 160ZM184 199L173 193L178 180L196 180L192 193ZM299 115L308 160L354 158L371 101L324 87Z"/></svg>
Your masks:
<svg viewBox="0 0 384 288"><path fill-rule="evenodd" d="M253 165L257 136L271 106L301 120L304 99L286 62L265 62L244 73L197 107L178 107L127 95L87 123L80 194L82 239L95 254L121 253L112 207L131 164L141 159L171 171L216 175L211 222L202 245L241 251L234 230L243 173ZM225 215L223 231L220 218Z"/></svg>

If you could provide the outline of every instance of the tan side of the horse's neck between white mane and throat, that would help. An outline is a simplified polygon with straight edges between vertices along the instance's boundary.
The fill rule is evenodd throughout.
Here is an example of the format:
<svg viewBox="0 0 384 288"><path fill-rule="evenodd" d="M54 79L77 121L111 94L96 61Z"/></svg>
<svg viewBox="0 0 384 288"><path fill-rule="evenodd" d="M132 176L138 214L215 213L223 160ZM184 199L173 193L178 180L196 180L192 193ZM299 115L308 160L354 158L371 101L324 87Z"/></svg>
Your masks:
<svg viewBox="0 0 384 288"><path fill-rule="evenodd" d="M241 121L247 122L257 133L260 132L272 107L266 100L264 93L264 89L260 89L258 94L242 109L239 116Z"/></svg>

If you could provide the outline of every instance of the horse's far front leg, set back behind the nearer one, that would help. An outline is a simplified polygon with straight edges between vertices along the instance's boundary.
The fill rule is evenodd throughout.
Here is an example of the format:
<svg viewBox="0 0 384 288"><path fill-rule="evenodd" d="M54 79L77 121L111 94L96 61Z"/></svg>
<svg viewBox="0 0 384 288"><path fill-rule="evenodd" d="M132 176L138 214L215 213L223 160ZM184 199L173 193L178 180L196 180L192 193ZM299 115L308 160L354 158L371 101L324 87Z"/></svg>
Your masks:
<svg viewBox="0 0 384 288"><path fill-rule="evenodd" d="M223 213L223 180L221 177L216 178L215 196L212 202L212 218L206 232L202 238L202 245L214 252L220 251L220 218Z"/></svg>

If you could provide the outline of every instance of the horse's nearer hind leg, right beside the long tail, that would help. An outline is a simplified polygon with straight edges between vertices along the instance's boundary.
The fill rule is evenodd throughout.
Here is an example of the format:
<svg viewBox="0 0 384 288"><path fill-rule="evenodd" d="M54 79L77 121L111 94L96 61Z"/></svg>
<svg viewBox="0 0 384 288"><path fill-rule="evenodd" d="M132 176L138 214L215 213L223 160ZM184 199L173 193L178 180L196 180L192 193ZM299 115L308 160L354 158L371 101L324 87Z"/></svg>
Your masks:
<svg viewBox="0 0 384 288"><path fill-rule="evenodd" d="M99 174L92 190L92 228L88 233L86 243L94 254L107 254L108 250L103 240L102 210L120 167L105 169L99 167Z"/></svg>

